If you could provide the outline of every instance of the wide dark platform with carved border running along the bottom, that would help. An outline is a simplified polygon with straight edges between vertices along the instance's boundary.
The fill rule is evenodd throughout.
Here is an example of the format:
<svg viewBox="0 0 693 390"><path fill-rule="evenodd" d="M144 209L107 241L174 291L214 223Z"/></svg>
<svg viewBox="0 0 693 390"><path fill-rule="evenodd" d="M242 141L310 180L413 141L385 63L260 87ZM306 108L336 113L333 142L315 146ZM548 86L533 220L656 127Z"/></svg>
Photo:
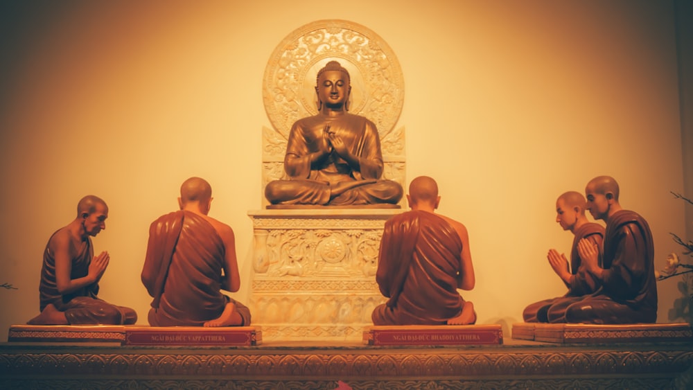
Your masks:
<svg viewBox="0 0 693 390"><path fill-rule="evenodd" d="M0 343L0 389L691 389L693 342Z"/></svg>

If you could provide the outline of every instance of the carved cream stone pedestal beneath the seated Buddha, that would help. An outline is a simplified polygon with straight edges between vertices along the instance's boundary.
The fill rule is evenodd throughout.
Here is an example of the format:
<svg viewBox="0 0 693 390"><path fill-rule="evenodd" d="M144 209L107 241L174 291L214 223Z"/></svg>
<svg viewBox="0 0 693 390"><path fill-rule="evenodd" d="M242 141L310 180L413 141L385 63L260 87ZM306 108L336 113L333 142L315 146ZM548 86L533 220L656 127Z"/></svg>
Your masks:
<svg viewBox="0 0 693 390"><path fill-rule="evenodd" d="M385 298L376 283L385 221L401 209L250 211L250 310L267 340L359 341Z"/></svg>

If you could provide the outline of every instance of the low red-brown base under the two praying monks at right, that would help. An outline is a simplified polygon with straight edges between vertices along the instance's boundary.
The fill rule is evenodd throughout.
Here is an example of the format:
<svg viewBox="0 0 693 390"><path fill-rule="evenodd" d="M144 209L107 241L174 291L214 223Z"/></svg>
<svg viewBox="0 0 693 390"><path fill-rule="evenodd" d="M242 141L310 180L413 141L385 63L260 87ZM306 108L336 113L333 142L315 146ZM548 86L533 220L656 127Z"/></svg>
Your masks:
<svg viewBox="0 0 693 390"><path fill-rule="evenodd" d="M514 323L514 339L559 344L599 344L611 342L690 342L689 323Z"/></svg>

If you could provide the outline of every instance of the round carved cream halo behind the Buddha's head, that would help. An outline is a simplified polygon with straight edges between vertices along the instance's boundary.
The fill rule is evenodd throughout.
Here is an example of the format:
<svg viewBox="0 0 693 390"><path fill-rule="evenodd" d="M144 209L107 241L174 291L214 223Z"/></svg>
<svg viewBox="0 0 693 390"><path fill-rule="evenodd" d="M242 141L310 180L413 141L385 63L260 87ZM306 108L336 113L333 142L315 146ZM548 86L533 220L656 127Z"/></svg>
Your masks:
<svg viewBox="0 0 693 390"><path fill-rule="evenodd" d="M274 129L288 136L300 118L317 114L317 71L336 60L349 71L349 112L365 116L387 134L404 104L397 57L376 33L351 21L314 21L297 28L274 49L263 83L265 110Z"/></svg>

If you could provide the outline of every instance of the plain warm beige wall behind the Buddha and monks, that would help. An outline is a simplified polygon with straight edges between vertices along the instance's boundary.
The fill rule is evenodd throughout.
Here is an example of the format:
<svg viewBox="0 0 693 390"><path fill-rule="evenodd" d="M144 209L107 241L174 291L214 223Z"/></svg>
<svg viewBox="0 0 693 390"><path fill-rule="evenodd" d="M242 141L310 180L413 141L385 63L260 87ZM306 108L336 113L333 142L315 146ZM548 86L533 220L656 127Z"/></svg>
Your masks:
<svg viewBox="0 0 693 390"><path fill-rule="evenodd" d="M148 227L193 175L236 231L235 296L248 301L263 73L319 19L362 24L396 53L407 182L435 177L439 211L466 224L479 323L508 331L525 305L565 292L545 258L572 242L554 202L597 175L649 221L659 267L680 252L673 1L14 1L0 13L0 283L18 289L0 290L0 340L37 314L44 245L87 194L110 209L94 239L111 254L100 296L146 324ZM658 283L660 322L676 320L678 281Z"/></svg>

